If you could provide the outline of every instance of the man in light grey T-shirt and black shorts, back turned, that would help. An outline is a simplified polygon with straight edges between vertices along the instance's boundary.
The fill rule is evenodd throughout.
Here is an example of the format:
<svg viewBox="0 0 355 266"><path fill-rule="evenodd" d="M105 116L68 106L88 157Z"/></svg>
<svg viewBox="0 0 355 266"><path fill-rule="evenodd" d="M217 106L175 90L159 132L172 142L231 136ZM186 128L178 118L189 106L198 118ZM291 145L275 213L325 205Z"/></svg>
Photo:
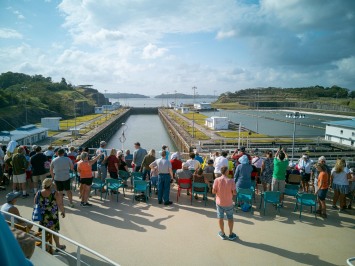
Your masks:
<svg viewBox="0 0 355 266"><path fill-rule="evenodd" d="M70 190L70 170L74 169L73 162L64 156L64 149L58 150L58 157L51 162L50 173L52 180L54 180L59 196L63 197L65 190L69 199L69 206L74 208L73 194Z"/></svg>

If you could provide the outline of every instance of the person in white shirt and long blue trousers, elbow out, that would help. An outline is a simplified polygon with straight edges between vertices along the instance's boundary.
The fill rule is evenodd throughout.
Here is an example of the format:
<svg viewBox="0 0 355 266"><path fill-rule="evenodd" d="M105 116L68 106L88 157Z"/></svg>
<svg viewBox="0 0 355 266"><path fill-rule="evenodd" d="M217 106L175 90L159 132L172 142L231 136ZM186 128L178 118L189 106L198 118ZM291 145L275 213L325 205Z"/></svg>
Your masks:
<svg viewBox="0 0 355 266"><path fill-rule="evenodd" d="M173 170L171 167L171 162L166 158L166 152L162 151L162 158L152 162L149 167L154 169L158 167L158 203L162 204L164 199L164 205L173 204L169 200L170 197L170 180L173 178Z"/></svg>

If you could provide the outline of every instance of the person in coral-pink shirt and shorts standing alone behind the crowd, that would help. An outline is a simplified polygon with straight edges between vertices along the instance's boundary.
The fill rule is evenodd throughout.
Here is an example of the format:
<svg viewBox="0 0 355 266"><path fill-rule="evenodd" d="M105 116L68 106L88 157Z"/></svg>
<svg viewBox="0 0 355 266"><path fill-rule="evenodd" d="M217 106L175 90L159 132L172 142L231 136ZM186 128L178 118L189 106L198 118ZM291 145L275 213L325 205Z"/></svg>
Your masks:
<svg viewBox="0 0 355 266"><path fill-rule="evenodd" d="M212 193L216 194L217 218L221 231L218 236L223 239L235 240L237 235L233 233L233 197L236 195L235 183L233 179L228 178L228 167L221 168L221 177L214 180ZM229 237L224 233L224 213L227 215Z"/></svg>

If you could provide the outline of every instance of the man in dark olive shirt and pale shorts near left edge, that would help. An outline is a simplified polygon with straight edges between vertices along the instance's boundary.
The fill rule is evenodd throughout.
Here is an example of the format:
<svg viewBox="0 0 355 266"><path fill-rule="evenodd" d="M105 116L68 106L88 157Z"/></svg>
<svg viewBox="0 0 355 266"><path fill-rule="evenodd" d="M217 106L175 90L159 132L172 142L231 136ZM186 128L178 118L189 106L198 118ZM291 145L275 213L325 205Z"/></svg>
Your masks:
<svg viewBox="0 0 355 266"><path fill-rule="evenodd" d="M26 193L26 169L29 163L25 157L25 149L18 147L17 153L12 156L12 173L13 173L13 192L16 192L16 187L19 185L22 188L22 198L27 198Z"/></svg>

